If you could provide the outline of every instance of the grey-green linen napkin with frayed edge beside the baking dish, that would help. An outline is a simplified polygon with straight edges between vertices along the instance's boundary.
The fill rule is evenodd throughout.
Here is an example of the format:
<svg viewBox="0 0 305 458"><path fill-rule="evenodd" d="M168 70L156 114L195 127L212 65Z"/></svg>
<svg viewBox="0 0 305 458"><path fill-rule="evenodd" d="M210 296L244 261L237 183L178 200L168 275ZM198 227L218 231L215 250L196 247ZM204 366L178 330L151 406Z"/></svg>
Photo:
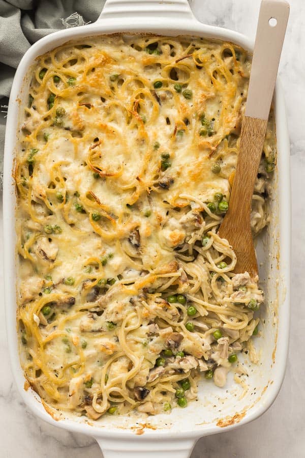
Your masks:
<svg viewBox="0 0 305 458"><path fill-rule="evenodd" d="M96 21L104 3L105 0L0 0L0 111L8 104L15 69L25 51L51 32ZM0 114L2 187L5 115Z"/></svg>

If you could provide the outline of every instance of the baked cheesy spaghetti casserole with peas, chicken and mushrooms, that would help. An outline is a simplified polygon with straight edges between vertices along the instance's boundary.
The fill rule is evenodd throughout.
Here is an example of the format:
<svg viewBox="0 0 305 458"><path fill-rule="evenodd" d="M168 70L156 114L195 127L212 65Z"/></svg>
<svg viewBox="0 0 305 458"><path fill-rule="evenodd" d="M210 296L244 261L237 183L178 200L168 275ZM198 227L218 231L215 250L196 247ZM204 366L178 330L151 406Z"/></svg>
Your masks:
<svg viewBox="0 0 305 458"><path fill-rule="evenodd" d="M16 185L21 363L60 410L156 414L218 386L263 295L217 235L251 61L231 43L105 36L33 68ZM266 222L272 118L253 199Z"/></svg>

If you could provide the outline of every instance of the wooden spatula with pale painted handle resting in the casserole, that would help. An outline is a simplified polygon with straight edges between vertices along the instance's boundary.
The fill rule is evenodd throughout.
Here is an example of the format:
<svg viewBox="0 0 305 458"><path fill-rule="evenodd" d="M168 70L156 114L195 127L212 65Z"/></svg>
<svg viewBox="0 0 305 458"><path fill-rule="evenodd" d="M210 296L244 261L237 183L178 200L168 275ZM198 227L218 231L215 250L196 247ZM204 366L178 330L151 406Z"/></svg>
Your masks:
<svg viewBox="0 0 305 458"><path fill-rule="evenodd" d="M232 245L235 273L258 273L250 226L254 183L261 159L267 120L282 52L289 5L284 0L262 0L253 53L245 117L229 209L219 235Z"/></svg>

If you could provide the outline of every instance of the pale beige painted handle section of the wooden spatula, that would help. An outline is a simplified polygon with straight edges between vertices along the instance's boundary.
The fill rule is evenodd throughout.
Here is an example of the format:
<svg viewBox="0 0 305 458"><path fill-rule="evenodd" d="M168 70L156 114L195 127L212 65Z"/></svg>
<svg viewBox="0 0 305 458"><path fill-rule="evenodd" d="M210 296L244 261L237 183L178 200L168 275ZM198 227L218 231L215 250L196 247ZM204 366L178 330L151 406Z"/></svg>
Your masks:
<svg viewBox="0 0 305 458"><path fill-rule="evenodd" d="M288 17L289 4L284 0L262 1L254 45L246 116L268 119Z"/></svg>

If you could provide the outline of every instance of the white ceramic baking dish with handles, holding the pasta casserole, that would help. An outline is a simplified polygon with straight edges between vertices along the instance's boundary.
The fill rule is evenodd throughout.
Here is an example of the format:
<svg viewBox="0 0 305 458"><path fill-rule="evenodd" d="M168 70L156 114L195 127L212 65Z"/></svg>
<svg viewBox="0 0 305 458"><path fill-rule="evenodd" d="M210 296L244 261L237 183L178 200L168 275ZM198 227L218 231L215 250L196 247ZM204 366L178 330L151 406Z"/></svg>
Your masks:
<svg viewBox="0 0 305 458"><path fill-rule="evenodd" d="M173 409L168 414L102 417L86 422L84 417L64 418L49 415L39 396L24 389L24 376L19 364L16 333L16 268L15 268L15 186L12 178L14 155L18 142L18 123L27 103L28 69L35 58L74 38L127 33L161 35L196 35L237 43L248 50L253 43L238 33L198 22L187 0L107 0L94 24L70 28L51 34L24 55L14 79L6 129L4 160L4 262L5 302L9 351L18 389L26 405L41 419L74 433L93 436L104 457L186 458L196 441L209 434L227 431L259 417L275 400L281 387L288 350L290 296L290 175L289 139L283 92L277 82L274 99L278 162L270 202L270 225L258 241L260 278L266 305L261 311L261 337L255 338L260 362L243 361L249 377L246 389L233 382L231 375L224 389L203 381L199 400L187 409Z"/></svg>

